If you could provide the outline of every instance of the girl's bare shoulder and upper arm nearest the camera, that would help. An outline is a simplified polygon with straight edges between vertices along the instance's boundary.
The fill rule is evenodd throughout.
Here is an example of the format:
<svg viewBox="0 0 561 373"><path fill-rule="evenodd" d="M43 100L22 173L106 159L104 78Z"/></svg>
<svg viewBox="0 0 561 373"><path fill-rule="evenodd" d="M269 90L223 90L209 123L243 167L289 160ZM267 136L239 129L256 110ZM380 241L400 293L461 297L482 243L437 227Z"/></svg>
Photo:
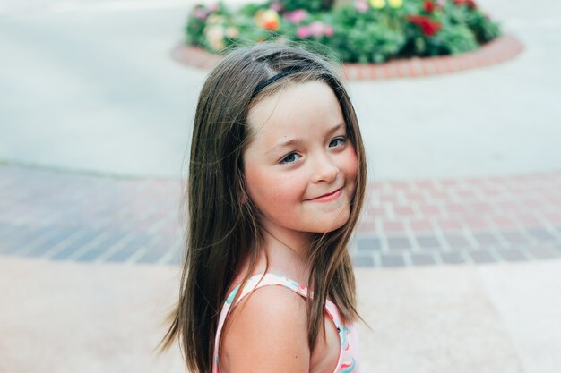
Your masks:
<svg viewBox="0 0 561 373"><path fill-rule="evenodd" d="M228 373L308 372L306 300L281 286L263 286L233 309L220 360Z"/></svg>

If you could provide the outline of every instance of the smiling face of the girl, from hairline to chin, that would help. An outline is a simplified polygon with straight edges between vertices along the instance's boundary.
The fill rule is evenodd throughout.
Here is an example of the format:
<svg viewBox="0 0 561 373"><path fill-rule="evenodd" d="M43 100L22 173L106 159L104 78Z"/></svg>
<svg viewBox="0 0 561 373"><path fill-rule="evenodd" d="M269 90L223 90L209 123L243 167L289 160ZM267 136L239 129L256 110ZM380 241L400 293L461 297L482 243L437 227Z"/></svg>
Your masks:
<svg viewBox="0 0 561 373"><path fill-rule="evenodd" d="M248 122L247 195L264 228L325 233L344 225L358 161L332 89L320 81L289 85L257 103Z"/></svg>

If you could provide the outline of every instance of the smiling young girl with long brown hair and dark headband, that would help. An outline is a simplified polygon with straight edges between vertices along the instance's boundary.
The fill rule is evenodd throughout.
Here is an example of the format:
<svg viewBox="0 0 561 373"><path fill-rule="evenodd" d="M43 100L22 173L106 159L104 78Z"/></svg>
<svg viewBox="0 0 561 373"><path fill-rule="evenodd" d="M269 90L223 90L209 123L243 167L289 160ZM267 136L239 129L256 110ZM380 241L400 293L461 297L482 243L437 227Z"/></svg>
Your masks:
<svg viewBox="0 0 561 373"><path fill-rule="evenodd" d="M358 372L347 245L365 182L357 117L331 64L273 44L227 55L196 109L164 348L179 339L196 373Z"/></svg>

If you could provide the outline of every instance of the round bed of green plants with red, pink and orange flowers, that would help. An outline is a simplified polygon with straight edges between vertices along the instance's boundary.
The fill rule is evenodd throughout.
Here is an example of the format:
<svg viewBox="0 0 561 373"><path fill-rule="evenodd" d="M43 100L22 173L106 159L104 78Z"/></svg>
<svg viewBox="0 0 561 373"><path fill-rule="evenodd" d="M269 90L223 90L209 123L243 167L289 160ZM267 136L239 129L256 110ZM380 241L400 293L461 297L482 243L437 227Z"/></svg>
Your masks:
<svg viewBox="0 0 561 373"><path fill-rule="evenodd" d="M500 35L473 0L273 0L236 10L195 5L189 45L218 54L232 45L298 42L345 63L384 63L412 56L458 55Z"/></svg>

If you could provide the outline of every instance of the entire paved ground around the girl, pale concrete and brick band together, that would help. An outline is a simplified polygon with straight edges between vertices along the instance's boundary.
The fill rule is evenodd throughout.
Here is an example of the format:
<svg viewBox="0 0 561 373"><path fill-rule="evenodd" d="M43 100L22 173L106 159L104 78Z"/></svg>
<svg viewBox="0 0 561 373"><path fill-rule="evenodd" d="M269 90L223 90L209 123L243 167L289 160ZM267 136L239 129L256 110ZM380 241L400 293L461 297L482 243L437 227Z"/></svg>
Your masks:
<svg viewBox="0 0 561 373"><path fill-rule="evenodd" d="M515 60L350 82L370 160L352 247L364 371L557 373L561 3L480 1ZM0 371L182 371L177 293L204 73L187 1L0 3Z"/></svg>

